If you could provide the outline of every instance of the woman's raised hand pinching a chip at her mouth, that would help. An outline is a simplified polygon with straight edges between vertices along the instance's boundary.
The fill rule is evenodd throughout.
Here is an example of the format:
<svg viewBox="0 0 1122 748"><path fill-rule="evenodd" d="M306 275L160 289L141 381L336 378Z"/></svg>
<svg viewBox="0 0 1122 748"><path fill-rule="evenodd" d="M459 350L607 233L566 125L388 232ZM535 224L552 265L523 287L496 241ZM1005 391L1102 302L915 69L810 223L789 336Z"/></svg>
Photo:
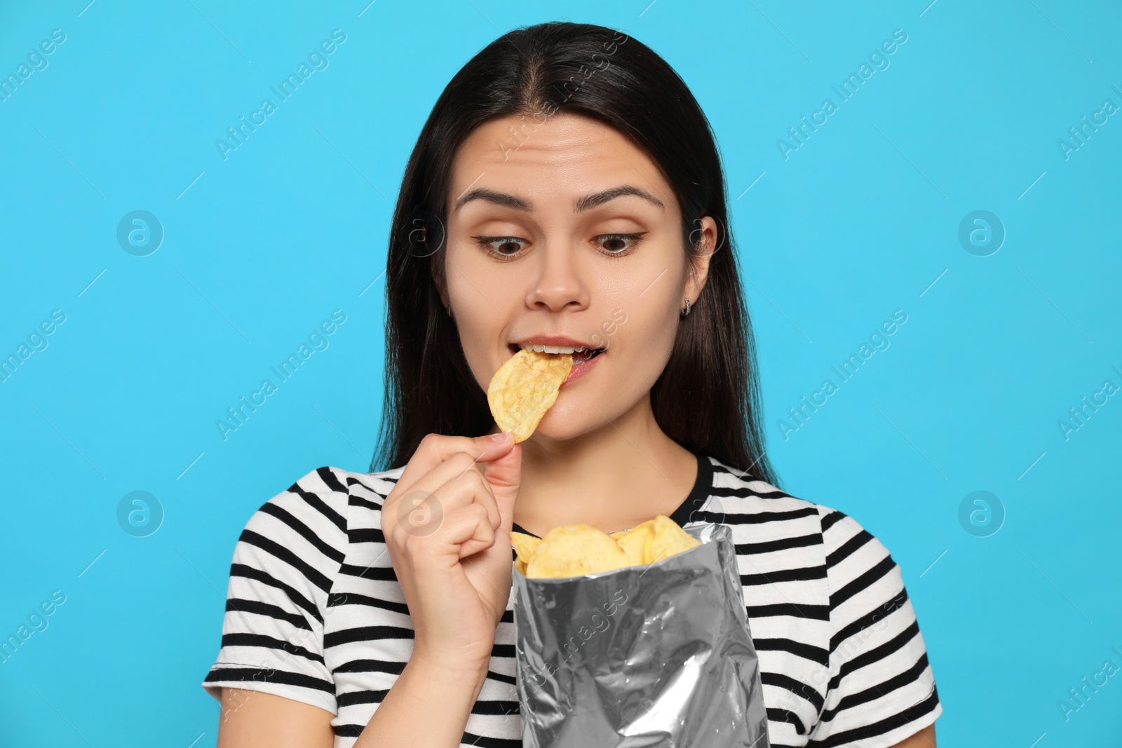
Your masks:
<svg viewBox="0 0 1122 748"><path fill-rule="evenodd" d="M413 657L477 673L487 669L511 594L522 479L522 447L512 434L495 436L429 434L381 507Z"/></svg>

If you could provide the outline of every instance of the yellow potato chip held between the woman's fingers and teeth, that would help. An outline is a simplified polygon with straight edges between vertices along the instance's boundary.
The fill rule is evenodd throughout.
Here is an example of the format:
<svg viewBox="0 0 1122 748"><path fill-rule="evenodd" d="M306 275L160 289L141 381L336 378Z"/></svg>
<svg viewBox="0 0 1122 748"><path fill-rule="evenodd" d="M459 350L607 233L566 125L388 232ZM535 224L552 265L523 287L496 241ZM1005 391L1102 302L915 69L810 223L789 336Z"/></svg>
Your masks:
<svg viewBox="0 0 1122 748"><path fill-rule="evenodd" d="M561 382L572 369L571 353L539 353L523 349L507 360L487 386L487 404L495 423L523 442L558 399Z"/></svg>

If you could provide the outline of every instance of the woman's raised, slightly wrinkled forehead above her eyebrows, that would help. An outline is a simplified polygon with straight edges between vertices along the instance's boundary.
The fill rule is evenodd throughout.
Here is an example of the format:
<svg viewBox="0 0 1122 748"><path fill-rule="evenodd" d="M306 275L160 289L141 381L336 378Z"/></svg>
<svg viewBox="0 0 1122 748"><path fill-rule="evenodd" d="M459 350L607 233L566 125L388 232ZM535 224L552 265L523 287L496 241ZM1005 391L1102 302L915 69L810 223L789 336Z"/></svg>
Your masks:
<svg viewBox="0 0 1122 748"><path fill-rule="evenodd" d="M570 210L586 195L622 185L660 201L664 209L656 210L675 209L670 185L642 149L609 124L572 113L480 124L457 150L451 178L450 213L478 188L523 197L532 210L555 200Z"/></svg>

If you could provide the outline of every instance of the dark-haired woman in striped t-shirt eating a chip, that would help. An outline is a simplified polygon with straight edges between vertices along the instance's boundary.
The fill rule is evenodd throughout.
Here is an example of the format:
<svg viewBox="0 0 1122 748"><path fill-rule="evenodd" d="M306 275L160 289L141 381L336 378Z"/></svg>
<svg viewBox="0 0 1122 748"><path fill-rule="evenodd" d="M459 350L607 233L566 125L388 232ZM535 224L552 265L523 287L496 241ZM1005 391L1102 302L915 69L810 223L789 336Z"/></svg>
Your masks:
<svg viewBox="0 0 1122 748"><path fill-rule="evenodd" d="M203 684L220 747L521 746L511 530L656 514L733 529L772 746L935 745L899 566L775 486L727 225L708 121L637 40L542 24L456 75L393 218L393 468L250 518ZM514 444L486 389L534 344L576 363Z"/></svg>

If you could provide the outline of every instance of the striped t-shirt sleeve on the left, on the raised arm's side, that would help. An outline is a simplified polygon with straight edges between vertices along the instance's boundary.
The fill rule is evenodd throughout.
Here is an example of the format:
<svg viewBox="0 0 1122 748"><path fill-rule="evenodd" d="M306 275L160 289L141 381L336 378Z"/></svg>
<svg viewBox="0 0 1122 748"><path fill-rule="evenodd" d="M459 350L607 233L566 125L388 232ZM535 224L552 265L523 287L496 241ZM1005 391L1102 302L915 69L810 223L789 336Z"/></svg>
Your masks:
<svg viewBox="0 0 1122 748"><path fill-rule="evenodd" d="M264 691L337 713L323 616L347 544L348 491L330 468L265 502L233 551L222 643L203 689Z"/></svg>

